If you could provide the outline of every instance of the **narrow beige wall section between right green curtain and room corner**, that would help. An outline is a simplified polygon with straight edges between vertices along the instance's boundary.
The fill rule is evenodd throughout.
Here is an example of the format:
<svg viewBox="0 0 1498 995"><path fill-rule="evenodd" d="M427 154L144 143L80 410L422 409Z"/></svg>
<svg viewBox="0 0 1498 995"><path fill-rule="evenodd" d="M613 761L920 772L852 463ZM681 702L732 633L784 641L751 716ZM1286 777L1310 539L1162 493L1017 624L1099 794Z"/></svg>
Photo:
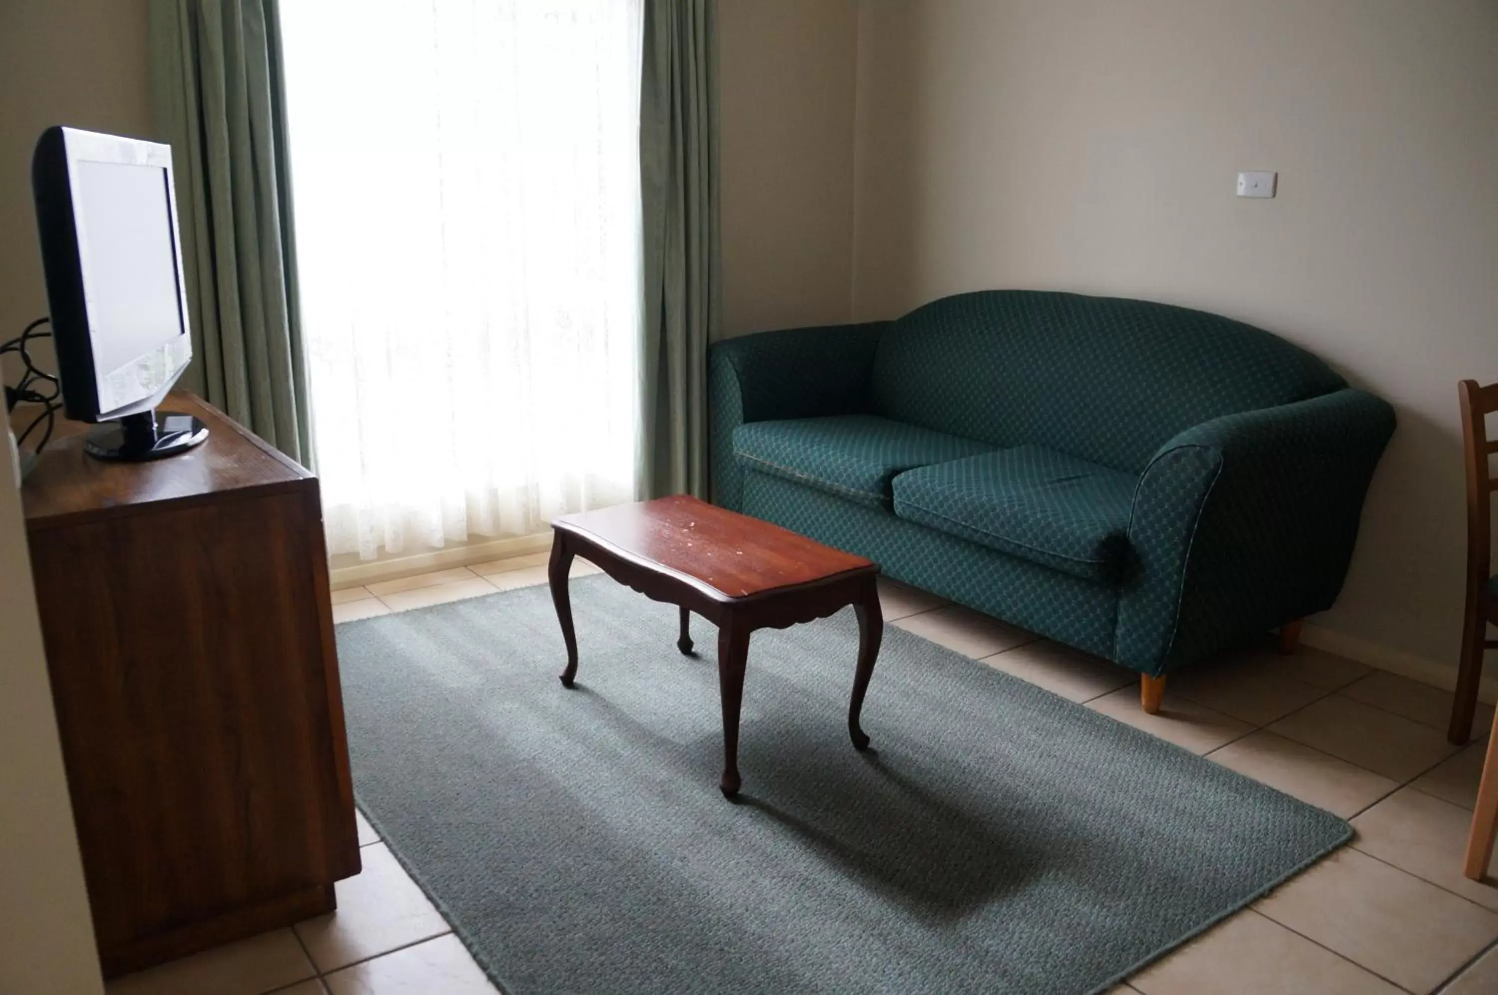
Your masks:
<svg viewBox="0 0 1498 995"><path fill-rule="evenodd" d="M724 332L846 322L854 0L721 0Z"/></svg>

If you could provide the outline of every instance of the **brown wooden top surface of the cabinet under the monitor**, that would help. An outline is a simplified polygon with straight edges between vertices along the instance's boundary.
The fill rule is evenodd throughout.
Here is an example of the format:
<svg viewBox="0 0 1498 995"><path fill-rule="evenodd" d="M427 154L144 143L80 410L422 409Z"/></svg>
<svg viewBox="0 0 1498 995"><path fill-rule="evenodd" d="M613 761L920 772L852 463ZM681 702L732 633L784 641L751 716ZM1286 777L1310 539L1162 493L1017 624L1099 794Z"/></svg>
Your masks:
<svg viewBox="0 0 1498 995"><path fill-rule="evenodd" d="M163 411L196 414L208 438L186 453L148 462L108 462L84 452L87 426L58 425L63 434L46 446L21 485L30 528L63 519L132 513L138 506L198 498L246 488L279 489L309 480L312 473L190 394L172 392Z"/></svg>

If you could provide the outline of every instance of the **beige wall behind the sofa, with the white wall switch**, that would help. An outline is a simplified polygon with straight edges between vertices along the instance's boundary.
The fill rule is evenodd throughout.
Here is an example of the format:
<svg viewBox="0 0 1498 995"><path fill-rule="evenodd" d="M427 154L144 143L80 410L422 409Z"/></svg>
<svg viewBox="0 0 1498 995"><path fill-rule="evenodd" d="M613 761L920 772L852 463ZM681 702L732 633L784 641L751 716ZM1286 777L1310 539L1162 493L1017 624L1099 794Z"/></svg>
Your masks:
<svg viewBox="0 0 1498 995"><path fill-rule="evenodd" d="M854 314L1055 287L1314 350L1399 410L1315 621L1453 663L1456 382L1498 380L1498 3L866 0L858 33Z"/></svg>

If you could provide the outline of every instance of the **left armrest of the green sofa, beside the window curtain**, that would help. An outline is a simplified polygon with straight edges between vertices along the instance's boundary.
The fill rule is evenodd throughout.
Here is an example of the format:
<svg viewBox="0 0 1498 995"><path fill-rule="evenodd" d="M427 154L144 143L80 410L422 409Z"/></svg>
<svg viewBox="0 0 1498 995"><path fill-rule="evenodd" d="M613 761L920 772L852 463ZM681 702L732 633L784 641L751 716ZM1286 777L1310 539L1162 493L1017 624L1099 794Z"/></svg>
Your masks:
<svg viewBox="0 0 1498 995"><path fill-rule="evenodd" d="M857 414L867 408L873 350L888 322L792 328L713 343L707 353L713 501L739 510L734 429L748 422Z"/></svg>

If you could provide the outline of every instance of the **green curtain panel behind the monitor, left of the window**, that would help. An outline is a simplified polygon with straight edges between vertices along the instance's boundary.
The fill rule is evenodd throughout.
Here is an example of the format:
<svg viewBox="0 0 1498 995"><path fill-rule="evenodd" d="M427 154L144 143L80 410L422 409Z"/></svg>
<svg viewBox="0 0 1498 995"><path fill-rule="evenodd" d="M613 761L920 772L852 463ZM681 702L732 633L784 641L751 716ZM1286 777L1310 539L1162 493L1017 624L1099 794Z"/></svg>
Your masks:
<svg viewBox="0 0 1498 995"><path fill-rule="evenodd" d="M310 464L274 0L151 0L156 126L172 145L193 386Z"/></svg>

